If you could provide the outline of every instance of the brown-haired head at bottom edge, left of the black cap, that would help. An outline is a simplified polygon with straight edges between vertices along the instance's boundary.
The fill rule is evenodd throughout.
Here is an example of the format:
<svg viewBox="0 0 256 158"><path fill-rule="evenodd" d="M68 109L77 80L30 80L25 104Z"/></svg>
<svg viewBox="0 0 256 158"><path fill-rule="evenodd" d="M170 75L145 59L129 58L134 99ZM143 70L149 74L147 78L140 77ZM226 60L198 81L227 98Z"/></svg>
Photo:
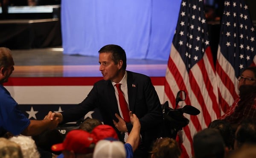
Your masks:
<svg viewBox="0 0 256 158"><path fill-rule="evenodd" d="M180 148L172 138L158 138L151 151L151 158L180 158L180 155Z"/></svg>

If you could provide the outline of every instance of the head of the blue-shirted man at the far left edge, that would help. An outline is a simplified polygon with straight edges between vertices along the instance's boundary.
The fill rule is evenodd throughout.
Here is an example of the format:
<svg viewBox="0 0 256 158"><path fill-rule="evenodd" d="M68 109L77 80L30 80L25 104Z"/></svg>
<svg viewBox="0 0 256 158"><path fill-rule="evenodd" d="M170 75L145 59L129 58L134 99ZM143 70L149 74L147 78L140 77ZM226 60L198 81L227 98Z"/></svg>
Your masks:
<svg viewBox="0 0 256 158"><path fill-rule="evenodd" d="M8 81L8 78L14 71L14 61L11 50L0 47L0 84Z"/></svg>

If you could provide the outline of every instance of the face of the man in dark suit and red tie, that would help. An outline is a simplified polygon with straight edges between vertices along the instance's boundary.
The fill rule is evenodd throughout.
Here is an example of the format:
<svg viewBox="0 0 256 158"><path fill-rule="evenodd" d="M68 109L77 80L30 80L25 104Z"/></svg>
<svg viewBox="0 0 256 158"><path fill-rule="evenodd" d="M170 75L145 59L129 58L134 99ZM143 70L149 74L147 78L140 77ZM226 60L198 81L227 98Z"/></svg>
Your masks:
<svg viewBox="0 0 256 158"><path fill-rule="evenodd" d="M112 53L104 52L99 54L99 71L102 72L104 80L115 80L118 79L119 69L121 69L120 64L115 64L112 59ZM116 82L118 83L118 82Z"/></svg>

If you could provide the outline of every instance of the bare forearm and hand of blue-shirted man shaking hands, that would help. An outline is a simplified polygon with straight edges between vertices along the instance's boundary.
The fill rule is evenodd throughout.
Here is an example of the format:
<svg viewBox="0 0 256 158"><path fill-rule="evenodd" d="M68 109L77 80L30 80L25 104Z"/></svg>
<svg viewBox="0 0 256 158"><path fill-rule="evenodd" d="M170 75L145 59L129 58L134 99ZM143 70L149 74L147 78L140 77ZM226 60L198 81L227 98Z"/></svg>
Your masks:
<svg viewBox="0 0 256 158"><path fill-rule="evenodd" d="M30 135L38 135L41 132L44 132L47 129L54 129L58 126L59 118L55 117L50 120L50 116L52 112L49 112L48 115L44 118L44 120L30 120L29 126L21 132L22 135L30 136Z"/></svg>

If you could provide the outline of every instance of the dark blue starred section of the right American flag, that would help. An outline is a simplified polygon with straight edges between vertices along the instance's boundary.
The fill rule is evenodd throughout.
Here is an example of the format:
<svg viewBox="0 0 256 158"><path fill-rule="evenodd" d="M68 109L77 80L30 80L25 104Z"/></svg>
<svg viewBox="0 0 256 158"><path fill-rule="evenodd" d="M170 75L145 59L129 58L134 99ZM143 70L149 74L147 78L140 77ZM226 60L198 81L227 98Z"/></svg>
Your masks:
<svg viewBox="0 0 256 158"><path fill-rule="evenodd" d="M230 3L226 0L224 6L227 9L225 9L222 16L222 24L224 25L221 30L221 52L235 69L240 69L236 71L236 76L239 76L242 69L253 62L253 57L256 54L254 27L250 21L248 6L246 4L239 2ZM229 53L226 52L235 53L234 59L229 58ZM240 54L246 58L240 58Z"/></svg>

